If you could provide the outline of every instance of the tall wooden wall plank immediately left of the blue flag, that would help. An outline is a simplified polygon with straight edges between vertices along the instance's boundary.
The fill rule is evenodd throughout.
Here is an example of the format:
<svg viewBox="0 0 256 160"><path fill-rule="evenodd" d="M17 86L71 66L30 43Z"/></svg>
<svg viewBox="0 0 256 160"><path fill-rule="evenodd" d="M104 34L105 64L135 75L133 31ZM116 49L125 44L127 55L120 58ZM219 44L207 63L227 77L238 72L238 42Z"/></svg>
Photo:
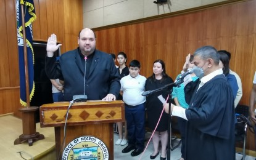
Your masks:
<svg viewBox="0 0 256 160"><path fill-rule="evenodd" d="M19 55L18 55L18 46L17 46L17 22L16 22L16 12L12 10L15 6L14 1L6 1L6 24L7 24L7 47L8 47L8 59L6 60L9 66L9 70L6 71L9 73L9 82L7 82L5 87L10 86L20 86L19 79ZM7 76L7 74L5 74Z"/></svg>

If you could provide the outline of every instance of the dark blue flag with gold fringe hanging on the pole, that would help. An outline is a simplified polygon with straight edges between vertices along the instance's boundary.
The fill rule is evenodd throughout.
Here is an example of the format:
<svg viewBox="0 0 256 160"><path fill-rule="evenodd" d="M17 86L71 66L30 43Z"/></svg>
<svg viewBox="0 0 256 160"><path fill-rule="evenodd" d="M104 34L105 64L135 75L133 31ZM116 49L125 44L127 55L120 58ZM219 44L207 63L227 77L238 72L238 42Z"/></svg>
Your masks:
<svg viewBox="0 0 256 160"><path fill-rule="evenodd" d="M24 8L25 19L25 31L27 42L27 66L28 66L28 82L30 100L34 95L35 83L34 83L34 53L33 53L33 33L32 22L36 20L35 7L33 0L16 0L16 17L17 17L17 38L19 48L19 71L20 71L20 103L22 106L27 106L26 97L26 79L25 79L25 62L24 62L24 50L23 50L23 27L22 27L22 11L21 4Z"/></svg>

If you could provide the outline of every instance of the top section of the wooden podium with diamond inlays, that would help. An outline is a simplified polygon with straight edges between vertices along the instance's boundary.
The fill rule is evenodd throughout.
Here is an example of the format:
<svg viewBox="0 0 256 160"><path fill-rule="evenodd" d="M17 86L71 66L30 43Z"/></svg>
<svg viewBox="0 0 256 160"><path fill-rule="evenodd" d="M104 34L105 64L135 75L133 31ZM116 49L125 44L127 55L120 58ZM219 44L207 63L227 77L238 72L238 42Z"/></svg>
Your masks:
<svg viewBox="0 0 256 160"><path fill-rule="evenodd" d="M41 127L64 126L68 103L40 106ZM125 121L123 101L74 103L69 110L67 126L114 123Z"/></svg>

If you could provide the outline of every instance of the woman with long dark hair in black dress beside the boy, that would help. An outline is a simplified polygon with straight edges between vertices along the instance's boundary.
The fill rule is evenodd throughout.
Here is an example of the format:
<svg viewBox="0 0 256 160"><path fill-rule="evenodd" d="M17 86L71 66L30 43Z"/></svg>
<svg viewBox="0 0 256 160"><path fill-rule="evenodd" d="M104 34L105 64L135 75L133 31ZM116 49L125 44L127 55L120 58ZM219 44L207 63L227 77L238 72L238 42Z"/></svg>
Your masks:
<svg viewBox="0 0 256 160"><path fill-rule="evenodd" d="M145 90L159 89L167 84L173 82L173 79L165 72L165 63L163 60L155 60L153 63L153 74L146 80ZM169 89L170 90L170 89ZM163 95L164 98L168 96L168 89L163 89L159 92L155 92L147 96L146 100L146 111L148 126L151 130L155 129L157 122L159 121L160 114L163 110L163 104L160 102L159 95ZM151 154L150 158L155 159L159 154L159 140L161 140L162 151L160 159L166 159L167 153L167 142L168 142L168 114L163 112L160 119L159 125L155 130L152 137L154 145L154 153Z"/></svg>

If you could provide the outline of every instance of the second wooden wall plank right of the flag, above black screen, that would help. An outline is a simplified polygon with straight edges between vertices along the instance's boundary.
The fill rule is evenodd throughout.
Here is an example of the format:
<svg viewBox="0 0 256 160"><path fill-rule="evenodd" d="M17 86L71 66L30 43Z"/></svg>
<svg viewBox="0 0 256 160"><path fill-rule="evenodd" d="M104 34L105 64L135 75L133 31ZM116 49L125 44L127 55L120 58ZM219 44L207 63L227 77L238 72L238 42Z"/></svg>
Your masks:
<svg viewBox="0 0 256 160"><path fill-rule="evenodd" d="M39 0L40 39L48 39L47 36L47 9L46 0Z"/></svg>

